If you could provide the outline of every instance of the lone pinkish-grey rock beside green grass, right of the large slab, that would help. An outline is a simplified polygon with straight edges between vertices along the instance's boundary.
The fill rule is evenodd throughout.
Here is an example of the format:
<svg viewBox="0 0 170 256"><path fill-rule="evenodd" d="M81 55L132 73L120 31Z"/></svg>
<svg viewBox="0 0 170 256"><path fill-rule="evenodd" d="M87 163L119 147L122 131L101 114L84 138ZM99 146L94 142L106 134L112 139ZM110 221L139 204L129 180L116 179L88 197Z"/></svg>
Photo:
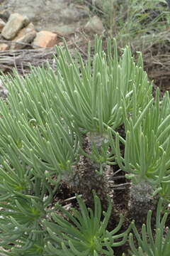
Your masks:
<svg viewBox="0 0 170 256"><path fill-rule="evenodd" d="M103 23L98 16L92 17L84 26L86 32L101 34L104 31Z"/></svg>

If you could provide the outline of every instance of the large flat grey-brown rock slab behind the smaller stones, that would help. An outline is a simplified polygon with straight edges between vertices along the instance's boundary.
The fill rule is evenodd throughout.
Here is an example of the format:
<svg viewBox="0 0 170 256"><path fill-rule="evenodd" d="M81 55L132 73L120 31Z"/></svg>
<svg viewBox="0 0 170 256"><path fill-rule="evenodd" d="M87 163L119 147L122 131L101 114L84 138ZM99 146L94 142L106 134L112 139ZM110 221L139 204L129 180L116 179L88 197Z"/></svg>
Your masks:
<svg viewBox="0 0 170 256"><path fill-rule="evenodd" d="M62 31L67 36L84 27L89 18L89 9L84 5L72 4L73 0L5 0L2 8L11 13L28 16L36 31ZM74 28L75 27L75 28Z"/></svg>

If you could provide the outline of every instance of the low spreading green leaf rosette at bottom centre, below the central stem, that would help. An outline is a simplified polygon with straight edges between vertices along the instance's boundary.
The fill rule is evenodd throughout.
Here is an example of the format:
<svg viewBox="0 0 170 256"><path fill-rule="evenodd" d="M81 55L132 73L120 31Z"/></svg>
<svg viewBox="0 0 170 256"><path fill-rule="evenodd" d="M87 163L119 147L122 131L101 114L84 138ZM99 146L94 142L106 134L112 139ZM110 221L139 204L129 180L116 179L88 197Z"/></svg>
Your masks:
<svg viewBox="0 0 170 256"><path fill-rule="evenodd" d="M96 193L94 193L94 211L86 208L80 196L77 196L77 201L80 212L72 209L72 215L62 206L57 205L61 215L52 213L52 221L43 220L43 225L47 228L51 238L45 250L49 255L56 256L97 256L101 254L113 256L113 247L125 243L131 226L124 233L117 234L123 223L121 215L118 226L111 232L107 230L112 208L111 198L108 198L108 210L103 212L103 220L101 220L101 202Z"/></svg>

